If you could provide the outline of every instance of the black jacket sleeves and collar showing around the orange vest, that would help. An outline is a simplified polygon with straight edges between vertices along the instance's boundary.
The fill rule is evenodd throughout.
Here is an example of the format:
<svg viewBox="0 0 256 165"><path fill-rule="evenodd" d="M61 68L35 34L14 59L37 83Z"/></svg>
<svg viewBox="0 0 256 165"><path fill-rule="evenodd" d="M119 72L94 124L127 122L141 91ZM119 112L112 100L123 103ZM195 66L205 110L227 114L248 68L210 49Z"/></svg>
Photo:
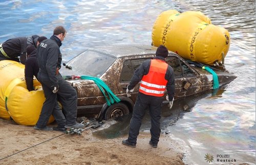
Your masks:
<svg viewBox="0 0 256 165"><path fill-rule="evenodd" d="M164 60L164 57L156 56L155 59ZM151 60L144 61L134 72L134 75L130 81L128 89L131 90L138 84L144 75L147 75L150 70ZM173 68L168 65L165 80L167 80L166 89L168 92L169 101L173 101L174 98L174 90L175 90L175 77Z"/></svg>

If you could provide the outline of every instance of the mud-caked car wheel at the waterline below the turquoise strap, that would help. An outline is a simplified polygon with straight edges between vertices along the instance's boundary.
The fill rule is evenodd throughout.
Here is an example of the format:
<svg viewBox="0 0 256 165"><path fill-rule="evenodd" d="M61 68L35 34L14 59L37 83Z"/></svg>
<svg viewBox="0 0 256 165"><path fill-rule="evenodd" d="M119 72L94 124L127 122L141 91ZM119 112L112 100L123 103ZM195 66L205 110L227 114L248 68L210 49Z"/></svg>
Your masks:
<svg viewBox="0 0 256 165"><path fill-rule="evenodd" d="M129 108L123 103L112 104L105 112L105 120L120 117L129 114Z"/></svg>

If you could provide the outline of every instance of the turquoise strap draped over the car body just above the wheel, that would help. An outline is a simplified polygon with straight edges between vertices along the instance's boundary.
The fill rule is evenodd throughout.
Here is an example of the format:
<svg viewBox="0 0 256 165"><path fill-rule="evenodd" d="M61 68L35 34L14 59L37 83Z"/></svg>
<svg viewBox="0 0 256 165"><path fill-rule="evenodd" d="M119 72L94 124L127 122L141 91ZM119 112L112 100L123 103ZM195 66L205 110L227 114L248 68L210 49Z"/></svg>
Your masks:
<svg viewBox="0 0 256 165"><path fill-rule="evenodd" d="M101 79L97 78L97 77L92 77L92 76L81 76L81 79L84 80L93 80L95 82L95 84L99 87L100 91L103 93L105 99L106 99L106 103L110 106L111 104L114 104L115 102L118 103L120 102L120 99L112 92L112 90L109 88L108 85L105 84L104 81L102 81ZM105 91L108 93L108 97L110 99L108 99L108 97L105 94Z"/></svg>

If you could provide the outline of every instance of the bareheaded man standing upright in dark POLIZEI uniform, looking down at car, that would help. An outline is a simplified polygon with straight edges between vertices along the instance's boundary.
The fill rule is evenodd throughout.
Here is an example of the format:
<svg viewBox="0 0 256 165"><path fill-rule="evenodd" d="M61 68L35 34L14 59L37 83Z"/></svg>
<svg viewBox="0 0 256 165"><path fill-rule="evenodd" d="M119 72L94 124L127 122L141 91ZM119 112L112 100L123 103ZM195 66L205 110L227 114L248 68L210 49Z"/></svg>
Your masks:
<svg viewBox="0 0 256 165"><path fill-rule="evenodd" d="M83 128L84 125L76 122L77 93L76 90L62 78L58 69L61 64L59 47L66 36L66 30L62 26L54 29L50 39L46 39L38 45L36 60L39 65L38 81L42 85L46 101L42 106L39 119L34 126L37 130L53 130L47 127L50 115L56 111L55 104L58 101L62 105L62 111L66 116L66 128ZM57 128L61 130L62 128Z"/></svg>

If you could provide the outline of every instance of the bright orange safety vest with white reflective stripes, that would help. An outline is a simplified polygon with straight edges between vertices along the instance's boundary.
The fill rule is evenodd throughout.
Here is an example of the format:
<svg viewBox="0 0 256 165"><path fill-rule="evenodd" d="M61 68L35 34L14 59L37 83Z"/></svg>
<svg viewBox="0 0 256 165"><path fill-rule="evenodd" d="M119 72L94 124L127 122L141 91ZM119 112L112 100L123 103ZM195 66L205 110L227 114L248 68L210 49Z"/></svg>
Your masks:
<svg viewBox="0 0 256 165"><path fill-rule="evenodd" d="M151 60L150 70L142 77L140 82L141 93L150 96L162 97L166 89L167 80L165 74L168 64L159 59Z"/></svg>

